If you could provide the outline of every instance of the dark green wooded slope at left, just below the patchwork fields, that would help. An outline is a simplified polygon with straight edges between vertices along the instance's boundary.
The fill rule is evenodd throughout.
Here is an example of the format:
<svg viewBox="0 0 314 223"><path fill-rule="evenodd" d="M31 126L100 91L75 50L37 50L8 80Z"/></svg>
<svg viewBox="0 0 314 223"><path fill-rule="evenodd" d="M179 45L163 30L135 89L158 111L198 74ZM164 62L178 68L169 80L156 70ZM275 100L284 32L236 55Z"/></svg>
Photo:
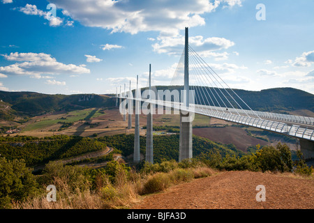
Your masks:
<svg viewBox="0 0 314 223"><path fill-rule="evenodd" d="M0 154L8 160L23 159L27 167L50 160L81 155L106 148L106 144L87 137L56 135L36 137L0 137Z"/></svg>

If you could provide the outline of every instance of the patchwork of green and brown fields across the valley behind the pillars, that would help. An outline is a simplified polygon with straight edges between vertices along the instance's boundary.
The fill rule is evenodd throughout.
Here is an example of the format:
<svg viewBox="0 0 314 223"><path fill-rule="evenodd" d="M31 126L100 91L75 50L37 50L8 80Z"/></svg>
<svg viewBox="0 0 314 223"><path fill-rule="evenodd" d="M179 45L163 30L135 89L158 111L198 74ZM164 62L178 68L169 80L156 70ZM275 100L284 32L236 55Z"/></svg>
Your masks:
<svg viewBox="0 0 314 223"><path fill-rule="evenodd" d="M153 120L154 126L163 126L165 128L179 126L178 114L154 114ZM17 133L19 135L45 137L54 134L67 134L82 137L103 137L114 134L134 134L135 115L132 115L132 123L133 128L128 130L128 115L126 121L123 121L123 115L119 113L119 109L91 108L36 116L23 125L18 125L18 123L10 124L22 128L22 131ZM144 127L146 124L147 116L141 114L140 126ZM234 123L207 116L196 114L193 126L193 134L222 144L234 144L241 151L246 151L248 146L257 144L276 145L279 141L285 142L292 149L296 148L295 144L289 143L281 137L264 136L259 134L259 131L255 128L239 128ZM246 130L251 130L254 134L249 135ZM146 129L141 128L140 134L145 135ZM154 134L167 134L167 130L158 130ZM11 134L11 136L15 135ZM257 139L258 137L259 139Z"/></svg>

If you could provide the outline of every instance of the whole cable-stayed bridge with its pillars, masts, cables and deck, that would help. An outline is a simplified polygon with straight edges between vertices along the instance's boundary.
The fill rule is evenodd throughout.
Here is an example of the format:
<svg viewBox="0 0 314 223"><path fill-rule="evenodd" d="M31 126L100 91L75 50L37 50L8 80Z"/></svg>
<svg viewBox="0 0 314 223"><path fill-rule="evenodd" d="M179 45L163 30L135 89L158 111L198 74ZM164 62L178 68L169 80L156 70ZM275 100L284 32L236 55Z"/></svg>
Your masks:
<svg viewBox="0 0 314 223"><path fill-rule="evenodd" d="M147 112L147 155L148 162L154 162L152 116L163 108L180 114L180 146L179 160L192 157L192 123L194 114L219 118L241 125L248 125L262 130L297 137L300 141L304 157L314 157L314 118L254 111L224 80L206 63L195 50L188 45L188 28L184 51L174 72L170 85L166 90L157 90L151 86L151 66L149 65L149 81L146 91L137 89L135 93L129 88L124 92L117 91L120 111L124 113L124 121L128 114L128 128L132 128L131 116L135 101L135 149L134 161L140 161L139 114L145 105ZM126 106L127 105L127 106ZM121 109L121 107L128 107ZM160 110L158 110L160 109ZM160 113L158 113L160 114ZM161 113L163 114L163 113Z"/></svg>

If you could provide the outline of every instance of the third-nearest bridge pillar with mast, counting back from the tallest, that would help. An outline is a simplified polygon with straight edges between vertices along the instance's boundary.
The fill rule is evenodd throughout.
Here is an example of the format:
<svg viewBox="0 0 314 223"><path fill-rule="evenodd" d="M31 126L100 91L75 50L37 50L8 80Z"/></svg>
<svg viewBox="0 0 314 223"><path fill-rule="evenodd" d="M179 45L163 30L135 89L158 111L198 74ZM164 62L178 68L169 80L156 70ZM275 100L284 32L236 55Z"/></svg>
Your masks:
<svg viewBox="0 0 314 223"><path fill-rule="evenodd" d="M139 99L138 75L136 84L135 98ZM140 101L135 100L135 134L134 134L134 154L133 162L140 162Z"/></svg>

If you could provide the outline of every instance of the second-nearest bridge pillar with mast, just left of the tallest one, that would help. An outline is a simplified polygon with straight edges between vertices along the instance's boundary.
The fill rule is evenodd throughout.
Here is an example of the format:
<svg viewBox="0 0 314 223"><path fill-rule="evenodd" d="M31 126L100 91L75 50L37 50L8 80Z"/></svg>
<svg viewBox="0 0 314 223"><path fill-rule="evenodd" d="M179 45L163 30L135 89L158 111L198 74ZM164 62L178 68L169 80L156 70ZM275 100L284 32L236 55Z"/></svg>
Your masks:
<svg viewBox="0 0 314 223"><path fill-rule="evenodd" d="M149 90L151 90L151 65L149 64ZM149 96L151 97L151 95ZM147 114L147 132L146 132L146 161L154 163L153 153L153 111L152 106L148 106L149 114Z"/></svg>

